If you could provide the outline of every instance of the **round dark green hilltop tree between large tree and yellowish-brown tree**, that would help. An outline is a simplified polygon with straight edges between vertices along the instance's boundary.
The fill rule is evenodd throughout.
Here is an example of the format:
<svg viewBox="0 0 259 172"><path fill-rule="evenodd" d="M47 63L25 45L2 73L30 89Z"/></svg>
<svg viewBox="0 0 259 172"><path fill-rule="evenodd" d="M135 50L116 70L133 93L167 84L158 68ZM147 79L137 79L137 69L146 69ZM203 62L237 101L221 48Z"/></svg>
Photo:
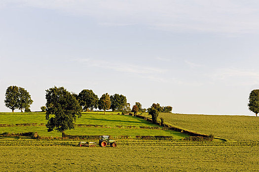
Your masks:
<svg viewBox="0 0 259 172"><path fill-rule="evenodd" d="M94 108L98 107L98 96L91 89L83 89L78 94L78 101L85 111L87 109L93 111Z"/></svg>

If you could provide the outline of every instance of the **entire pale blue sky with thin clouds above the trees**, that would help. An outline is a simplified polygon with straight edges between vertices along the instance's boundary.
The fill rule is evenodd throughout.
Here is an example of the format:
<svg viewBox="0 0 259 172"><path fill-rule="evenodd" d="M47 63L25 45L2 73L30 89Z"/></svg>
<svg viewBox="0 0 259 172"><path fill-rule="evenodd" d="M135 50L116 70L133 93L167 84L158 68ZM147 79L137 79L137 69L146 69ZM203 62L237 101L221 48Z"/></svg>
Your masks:
<svg viewBox="0 0 259 172"><path fill-rule="evenodd" d="M253 115L258 46L257 0L0 0L0 112L16 85L33 111L64 86L174 113Z"/></svg>

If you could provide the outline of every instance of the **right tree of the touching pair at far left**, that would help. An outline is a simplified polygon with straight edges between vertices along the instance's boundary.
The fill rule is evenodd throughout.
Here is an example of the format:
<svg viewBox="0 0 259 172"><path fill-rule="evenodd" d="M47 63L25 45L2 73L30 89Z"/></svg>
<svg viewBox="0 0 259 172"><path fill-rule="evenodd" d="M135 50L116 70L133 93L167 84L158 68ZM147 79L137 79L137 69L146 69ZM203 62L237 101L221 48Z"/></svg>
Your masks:
<svg viewBox="0 0 259 172"><path fill-rule="evenodd" d="M26 89L19 87L18 109L20 109L21 112L23 112L23 109L29 110L31 104L33 104L33 100L31 99L30 93Z"/></svg>

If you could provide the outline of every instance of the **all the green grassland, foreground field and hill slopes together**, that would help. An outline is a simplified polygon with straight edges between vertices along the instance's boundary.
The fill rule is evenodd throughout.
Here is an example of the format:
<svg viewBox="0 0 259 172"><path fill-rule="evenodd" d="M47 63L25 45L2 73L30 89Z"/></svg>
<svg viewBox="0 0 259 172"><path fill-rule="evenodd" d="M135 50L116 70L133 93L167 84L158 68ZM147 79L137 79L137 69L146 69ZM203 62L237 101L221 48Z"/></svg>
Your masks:
<svg viewBox="0 0 259 172"><path fill-rule="evenodd" d="M0 137L0 171L105 171L105 172L258 172L259 118L251 116L159 114L165 122L230 142L187 142L183 133L154 127L141 118L111 112L83 113L71 135L173 136L174 141L116 140L118 147L79 147L75 140L32 140L30 137ZM46 123L44 113L0 113L0 124ZM118 127L124 126L124 127ZM127 128L126 126L135 126ZM45 126L0 127L0 133L37 131L41 136L61 137ZM238 141L238 142L235 142Z"/></svg>

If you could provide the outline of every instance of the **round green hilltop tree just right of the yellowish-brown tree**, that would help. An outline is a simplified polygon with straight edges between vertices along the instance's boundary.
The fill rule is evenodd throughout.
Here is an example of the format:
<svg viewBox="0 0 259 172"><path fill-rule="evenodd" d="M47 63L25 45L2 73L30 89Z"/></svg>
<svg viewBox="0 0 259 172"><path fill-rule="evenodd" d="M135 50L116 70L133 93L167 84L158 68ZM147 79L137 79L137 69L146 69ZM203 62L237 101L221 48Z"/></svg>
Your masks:
<svg viewBox="0 0 259 172"><path fill-rule="evenodd" d="M111 110L112 111L122 111L125 106L127 106L127 98L122 94L111 95Z"/></svg>

